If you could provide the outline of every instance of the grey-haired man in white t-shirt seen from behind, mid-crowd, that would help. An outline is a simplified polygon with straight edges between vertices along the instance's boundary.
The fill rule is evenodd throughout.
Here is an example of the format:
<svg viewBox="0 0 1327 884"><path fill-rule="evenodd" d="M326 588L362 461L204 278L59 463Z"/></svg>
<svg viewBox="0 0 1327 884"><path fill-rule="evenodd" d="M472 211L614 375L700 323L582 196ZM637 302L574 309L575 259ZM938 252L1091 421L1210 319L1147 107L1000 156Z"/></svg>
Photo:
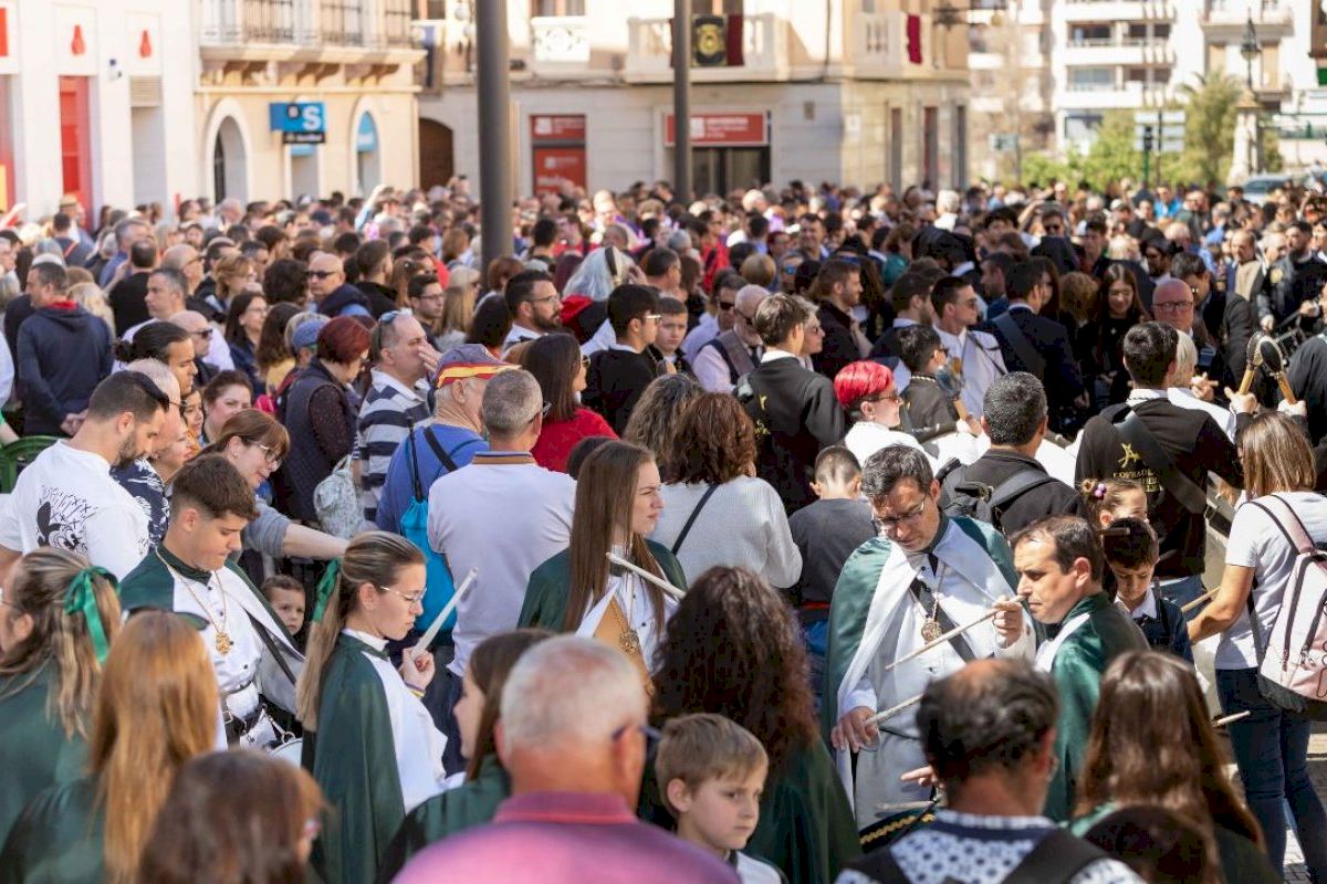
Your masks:
<svg viewBox="0 0 1327 884"><path fill-rule="evenodd" d="M455 657L439 673L450 681L439 726L458 747L450 710L470 653L488 636L516 628L529 575L571 542L576 482L529 455L544 425L543 402L528 371L491 378L480 406L488 451L429 489L429 546L447 558L458 583L478 569L456 606Z"/></svg>

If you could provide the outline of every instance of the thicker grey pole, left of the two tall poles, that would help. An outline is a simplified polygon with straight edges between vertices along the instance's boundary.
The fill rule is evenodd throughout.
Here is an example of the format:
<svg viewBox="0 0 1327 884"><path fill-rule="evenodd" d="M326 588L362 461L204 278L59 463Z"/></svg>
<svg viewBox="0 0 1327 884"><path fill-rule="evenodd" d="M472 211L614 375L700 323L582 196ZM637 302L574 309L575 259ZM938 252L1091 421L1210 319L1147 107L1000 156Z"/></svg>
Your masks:
<svg viewBox="0 0 1327 884"><path fill-rule="evenodd" d="M511 254L511 83L507 3L474 4L478 42L479 201L483 264Z"/></svg>

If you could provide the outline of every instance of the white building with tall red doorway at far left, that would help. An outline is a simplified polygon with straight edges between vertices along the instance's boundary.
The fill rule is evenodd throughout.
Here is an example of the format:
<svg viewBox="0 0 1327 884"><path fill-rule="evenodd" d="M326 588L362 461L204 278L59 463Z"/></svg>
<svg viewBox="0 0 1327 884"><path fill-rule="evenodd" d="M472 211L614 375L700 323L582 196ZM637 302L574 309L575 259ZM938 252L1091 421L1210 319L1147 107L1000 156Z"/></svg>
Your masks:
<svg viewBox="0 0 1327 884"><path fill-rule="evenodd" d="M0 0L0 213L196 190L187 3Z"/></svg>

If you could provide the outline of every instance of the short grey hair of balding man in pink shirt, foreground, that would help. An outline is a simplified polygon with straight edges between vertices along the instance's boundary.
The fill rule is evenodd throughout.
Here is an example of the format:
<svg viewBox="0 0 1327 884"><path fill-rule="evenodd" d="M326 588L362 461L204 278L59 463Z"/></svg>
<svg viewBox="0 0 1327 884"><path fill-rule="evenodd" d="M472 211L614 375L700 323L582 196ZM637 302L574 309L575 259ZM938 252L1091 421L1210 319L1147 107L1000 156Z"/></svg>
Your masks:
<svg viewBox="0 0 1327 884"><path fill-rule="evenodd" d="M515 374L498 375L488 388ZM520 655L502 693L508 750L608 741L618 728L642 724L646 713L641 677L626 655L576 635L540 641Z"/></svg>

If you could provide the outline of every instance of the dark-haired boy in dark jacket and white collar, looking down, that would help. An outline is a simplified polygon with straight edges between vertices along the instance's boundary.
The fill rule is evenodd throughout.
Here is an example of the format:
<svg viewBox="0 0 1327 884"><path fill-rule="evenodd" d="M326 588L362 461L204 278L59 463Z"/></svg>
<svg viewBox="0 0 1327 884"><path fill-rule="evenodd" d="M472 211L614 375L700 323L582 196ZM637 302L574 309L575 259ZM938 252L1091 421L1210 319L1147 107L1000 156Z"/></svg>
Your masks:
<svg viewBox="0 0 1327 884"><path fill-rule="evenodd" d="M1120 518L1101 534L1105 563L1115 575L1115 603L1143 630L1148 644L1193 663L1189 631L1174 602L1157 592L1152 573L1160 554L1156 531L1144 520Z"/></svg>

